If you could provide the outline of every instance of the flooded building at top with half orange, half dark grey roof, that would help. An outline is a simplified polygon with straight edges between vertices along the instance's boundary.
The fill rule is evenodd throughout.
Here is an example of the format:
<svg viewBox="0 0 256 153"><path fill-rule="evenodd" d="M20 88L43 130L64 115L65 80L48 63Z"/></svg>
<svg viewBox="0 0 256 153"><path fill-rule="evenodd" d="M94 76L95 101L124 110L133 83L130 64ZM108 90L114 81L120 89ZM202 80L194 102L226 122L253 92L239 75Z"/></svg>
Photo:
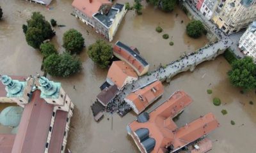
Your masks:
<svg viewBox="0 0 256 153"><path fill-rule="evenodd" d="M74 0L74 14L86 25L112 41L127 10L123 4L112 3L108 0Z"/></svg>

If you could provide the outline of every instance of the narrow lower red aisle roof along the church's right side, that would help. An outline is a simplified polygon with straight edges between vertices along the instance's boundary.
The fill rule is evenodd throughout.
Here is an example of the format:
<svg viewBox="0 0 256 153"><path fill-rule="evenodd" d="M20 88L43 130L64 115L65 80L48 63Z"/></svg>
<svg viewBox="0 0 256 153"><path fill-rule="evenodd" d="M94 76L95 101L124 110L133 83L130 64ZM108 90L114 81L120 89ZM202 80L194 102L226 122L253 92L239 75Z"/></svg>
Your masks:
<svg viewBox="0 0 256 153"><path fill-rule="evenodd" d="M67 124L68 112L57 110L48 152L60 153ZM67 135L68 133L66 133Z"/></svg>

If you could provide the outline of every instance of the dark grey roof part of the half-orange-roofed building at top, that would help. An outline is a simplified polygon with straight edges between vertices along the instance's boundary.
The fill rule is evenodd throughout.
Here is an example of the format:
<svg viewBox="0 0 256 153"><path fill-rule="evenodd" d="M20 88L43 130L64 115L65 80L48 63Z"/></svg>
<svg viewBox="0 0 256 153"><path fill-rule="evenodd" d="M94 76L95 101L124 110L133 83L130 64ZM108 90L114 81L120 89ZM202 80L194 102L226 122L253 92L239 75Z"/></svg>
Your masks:
<svg viewBox="0 0 256 153"><path fill-rule="evenodd" d="M111 19L115 19L117 11L118 10L111 8L107 15L96 13L95 15L93 15L93 17L100 20L100 22L102 22L102 24L106 25L107 27L110 27L110 25L112 24Z"/></svg>

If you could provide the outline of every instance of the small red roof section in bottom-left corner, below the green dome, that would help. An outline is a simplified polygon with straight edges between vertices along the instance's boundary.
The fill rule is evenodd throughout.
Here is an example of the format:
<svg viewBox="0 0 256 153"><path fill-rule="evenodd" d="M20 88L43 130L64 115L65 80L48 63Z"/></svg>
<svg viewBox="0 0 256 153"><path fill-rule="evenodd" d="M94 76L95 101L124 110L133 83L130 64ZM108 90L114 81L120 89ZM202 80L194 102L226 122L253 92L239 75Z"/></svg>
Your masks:
<svg viewBox="0 0 256 153"><path fill-rule="evenodd" d="M15 136L16 135L0 134L0 153L12 152Z"/></svg>

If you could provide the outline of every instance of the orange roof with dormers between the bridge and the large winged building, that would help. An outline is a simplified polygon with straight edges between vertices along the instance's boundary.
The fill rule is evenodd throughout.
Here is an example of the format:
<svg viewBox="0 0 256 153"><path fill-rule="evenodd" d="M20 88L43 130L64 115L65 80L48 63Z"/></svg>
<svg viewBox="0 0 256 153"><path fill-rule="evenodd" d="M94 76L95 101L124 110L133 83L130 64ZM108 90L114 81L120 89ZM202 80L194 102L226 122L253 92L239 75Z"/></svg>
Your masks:
<svg viewBox="0 0 256 153"><path fill-rule="evenodd" d="M132 101L132 103L136 106L136 110L134 112L141 113L148 105L153 103L159 96L161 96L164 92L163 85L161 81L156 81L153 84L144 87L143 89L139 89L138 91L132 92L129 94L125 100Z"/></svg>

